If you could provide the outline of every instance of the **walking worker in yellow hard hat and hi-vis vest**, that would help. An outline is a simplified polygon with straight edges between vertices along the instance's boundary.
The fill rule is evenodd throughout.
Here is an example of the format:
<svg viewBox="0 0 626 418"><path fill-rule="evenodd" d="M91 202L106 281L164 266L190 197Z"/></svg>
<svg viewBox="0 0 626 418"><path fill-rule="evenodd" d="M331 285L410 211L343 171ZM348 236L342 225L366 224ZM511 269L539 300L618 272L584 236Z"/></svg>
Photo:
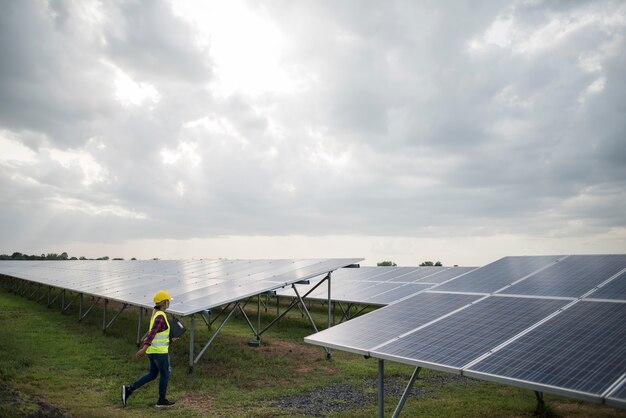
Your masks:
<svg viewBox="0 0 626 418"><path fill-rule="evenodd" d="M170 379L170 324L165 315L165 310L169 308L172 297L165 290L159 290L154 295L154 311L150 318L150 331L148 336L143 340L143 347L137 351L135 357L142 358L148 354L150 361L150 369L147 374L140 377L135 383L122 386L122 405L126 406L128 397L137 389L148 382L153 381L160 374L159 379L159 400L156 403L157 408L165 408L174 405L174 402L168 401L165 397L167 392L167 383ZM172 342L176 338L171 339Z"/></svg>

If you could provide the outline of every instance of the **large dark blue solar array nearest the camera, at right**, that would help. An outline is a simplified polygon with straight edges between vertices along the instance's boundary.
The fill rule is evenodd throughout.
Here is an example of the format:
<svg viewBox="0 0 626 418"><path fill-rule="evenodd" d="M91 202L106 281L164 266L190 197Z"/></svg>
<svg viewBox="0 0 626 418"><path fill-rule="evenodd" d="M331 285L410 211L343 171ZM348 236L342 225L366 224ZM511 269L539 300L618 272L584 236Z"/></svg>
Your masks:
<svg viewBox="0 0 626 418"><path fill-rule="evenodd" d="M626 255L505 257L305 338L626 407Z"/></svg>

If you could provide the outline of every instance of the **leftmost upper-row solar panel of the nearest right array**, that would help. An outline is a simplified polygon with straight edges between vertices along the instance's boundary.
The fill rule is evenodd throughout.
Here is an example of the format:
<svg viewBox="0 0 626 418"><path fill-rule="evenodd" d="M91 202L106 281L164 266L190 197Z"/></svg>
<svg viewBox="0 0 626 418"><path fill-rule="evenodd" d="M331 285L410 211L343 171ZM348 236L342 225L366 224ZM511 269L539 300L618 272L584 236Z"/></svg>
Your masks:
<svg viewBox="0 0 626 418"><path fill-rule="evenodd" d="M445 283L437 287L437 290L492 293L550 265L559 258L559 256L505 257Z"/></svg>

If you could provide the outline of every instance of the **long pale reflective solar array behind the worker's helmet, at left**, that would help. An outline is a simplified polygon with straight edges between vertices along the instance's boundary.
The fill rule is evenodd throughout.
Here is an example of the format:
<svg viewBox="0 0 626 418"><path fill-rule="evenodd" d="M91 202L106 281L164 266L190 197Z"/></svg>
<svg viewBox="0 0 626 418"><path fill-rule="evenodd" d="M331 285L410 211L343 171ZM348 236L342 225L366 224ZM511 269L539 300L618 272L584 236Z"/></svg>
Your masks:
<svg viewBox="0 0 626 418"><path fill-rule="evenodd" d="M0 274L148 308L165 289L174 299L169 311L190 315L361 260L0 261Z"/></svg>

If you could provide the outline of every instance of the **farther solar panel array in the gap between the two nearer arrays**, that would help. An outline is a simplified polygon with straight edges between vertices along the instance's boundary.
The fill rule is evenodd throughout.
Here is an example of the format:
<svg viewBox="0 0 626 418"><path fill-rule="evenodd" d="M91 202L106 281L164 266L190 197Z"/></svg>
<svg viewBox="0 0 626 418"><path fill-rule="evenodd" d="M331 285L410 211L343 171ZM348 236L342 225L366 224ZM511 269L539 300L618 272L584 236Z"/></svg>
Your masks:
<svg viewBox="0 0 626 418"><path fill-rule="evenodd" d="M442 282L476 269L476 267L360 267L335 271L331 279L331 298L334 301L367 305L388 305L414 295ZM308 285L298 285L300 294L312 289L323 277ZM292 289L278 292L281 296L295 296ZM328 289L320 286L309 299L328 299Z"/></svg>

